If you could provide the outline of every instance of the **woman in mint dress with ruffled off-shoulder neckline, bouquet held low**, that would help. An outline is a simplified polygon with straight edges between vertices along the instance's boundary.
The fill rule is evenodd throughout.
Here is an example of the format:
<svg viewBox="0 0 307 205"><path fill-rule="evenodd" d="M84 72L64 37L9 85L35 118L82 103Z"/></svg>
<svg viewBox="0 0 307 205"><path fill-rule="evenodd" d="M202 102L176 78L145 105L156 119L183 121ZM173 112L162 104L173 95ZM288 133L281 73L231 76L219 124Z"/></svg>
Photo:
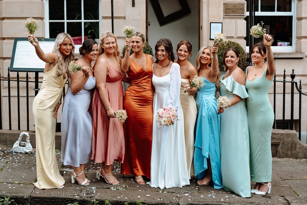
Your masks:
<svg viewBox="0 0 307 205"><path fill-rule="evenodd" d="M223 188L241 197L251 196L249 167L249 135L247 110L244 98L245 74L238 67L239 52L230 47L223 55L225 75L220 77L220 94L227 96L231 106L221 113L220 153Z"/></svg>

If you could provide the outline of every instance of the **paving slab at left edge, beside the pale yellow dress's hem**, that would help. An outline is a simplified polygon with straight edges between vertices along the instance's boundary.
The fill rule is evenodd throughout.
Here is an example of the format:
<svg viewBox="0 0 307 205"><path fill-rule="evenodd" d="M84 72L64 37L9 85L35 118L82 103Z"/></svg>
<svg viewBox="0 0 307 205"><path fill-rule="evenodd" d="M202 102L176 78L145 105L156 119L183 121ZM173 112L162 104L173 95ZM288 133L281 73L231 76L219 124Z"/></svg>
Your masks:
<svg viewBox="0 0 307 205"><path fill-rule="evenodd" d="M8 163L0 173L0 182L32 184L36 179L34 164Z"/></svg>

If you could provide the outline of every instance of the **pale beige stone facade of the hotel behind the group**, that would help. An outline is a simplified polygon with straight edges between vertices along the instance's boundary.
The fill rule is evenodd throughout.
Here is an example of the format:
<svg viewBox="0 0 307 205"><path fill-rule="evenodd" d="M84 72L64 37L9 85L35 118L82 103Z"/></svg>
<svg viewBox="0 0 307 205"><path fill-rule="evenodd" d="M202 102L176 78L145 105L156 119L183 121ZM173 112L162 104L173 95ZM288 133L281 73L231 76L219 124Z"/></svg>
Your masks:
<svg viewBox="0 0 307 205"><path fill-rule="evenodd" d="M200 39L199 45L209 45L212 40L209 40L210 35L210 22L223 22L223 33L226 34L228 40L237 41L243 48L245 48L246 41L246 16L224 16L223 15L223 3L245 3L244 0L200 0L199 5L199 21L200 21ZM132 7L131 0L114 0L114 33L118 37L119 49L124 45L125 36L121 32L124 25L133 25L136 30L143 34L146 34L146 3L149 4L148 0L136 0L135 7ZM286 81L290 81L290 73L292 69L296 74L295 81L302 81L302 90L307 93L307 72L305 65L307 63L306 52L307 52L307 0L295 0L295 52L275 52L274 61L276 64L276 77L277 80L282 80L283 70L286 69ZM101 0L101 29L100 32L111 31L111 0ZM13 43L15 37L26 37L28 34L24 28L22 28L22 22L30 16L40 20L40 28L36 32L37 36L45 37L48 32L46 29L45 16L48 13L46 11L45 0L0 0L0 74L2 79L6 79L8 75L8 67L10 66L10 59L13 49ZM197 19L198 20L198 19ZM161 36L163 37L163 36ZM150 38L150 36L149 36ZM194 47L194 46L193 46ZM195 46L196 47L196 46ZM195 53L195 51L194 51ZM16 72L10 72L10 78L16 79ZM25 78L26 73L19 72L21 79ZM42 73L40 73L40 80ZM34 73L29 73L29 80L34 79ZM277 87L277 112L276 119L282 118L282 84L278 84ZM34 84L30 84L34 86ZM17 110L17 84L11 82L11 106L12 107L12 119L17 118L15 111ZM24 96L25 83L21 82L21 93ZM3 129L8 129L8 84L7 81L1 81L1 96L2 96L2 118L3 118ZM287 85L287 96L286 96L286 109L290 107L289 99L290 87ZM270 90L270 100L273 101L273 87ZM29 102L29 116L30 116L30 130L33 130L32 126L32 101L34 97L33 89L30 89L30 102ZM295 96L295 108L298 104L298 95ZM25 97L21 97L21 101L24 101ZM302 97L303 102L306 101L306 97ZM25 106L25 103L22 103ZM303 103L303 111L307 109L306 103ZM22 107L21 110L25 108ZM13 114L14 111L14 114ZM22 128L24 127L25 116L21 117ZM290 119L290 114L286 112L286 119ZM294 112L294 119L298 119L298 111ZM302 132L306 132L307 116L305 112L302 112ZM17 129L16 120L12 120L13 129ZM60 122L60 116L59 120Z"/></svg>

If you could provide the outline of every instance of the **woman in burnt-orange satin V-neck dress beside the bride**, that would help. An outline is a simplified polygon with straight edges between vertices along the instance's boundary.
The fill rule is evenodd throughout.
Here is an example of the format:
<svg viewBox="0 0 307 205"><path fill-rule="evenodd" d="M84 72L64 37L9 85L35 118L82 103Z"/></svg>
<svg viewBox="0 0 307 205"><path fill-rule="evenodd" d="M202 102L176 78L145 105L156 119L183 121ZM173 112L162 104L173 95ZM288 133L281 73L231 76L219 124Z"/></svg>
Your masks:
<svg viewBox="0 0 307 205"><path fill-rule="evenodd" d="M127 112L124 123L125 157L122 174L132 174L138 184L145 184L142 177L150 178L150 156L153 124L153 57L143 53L145 36L140 32L126 38L126 53L121 69L127 72L130 85L124 96L123 107ZM129 56L130 49L134 53Z"/></svg>

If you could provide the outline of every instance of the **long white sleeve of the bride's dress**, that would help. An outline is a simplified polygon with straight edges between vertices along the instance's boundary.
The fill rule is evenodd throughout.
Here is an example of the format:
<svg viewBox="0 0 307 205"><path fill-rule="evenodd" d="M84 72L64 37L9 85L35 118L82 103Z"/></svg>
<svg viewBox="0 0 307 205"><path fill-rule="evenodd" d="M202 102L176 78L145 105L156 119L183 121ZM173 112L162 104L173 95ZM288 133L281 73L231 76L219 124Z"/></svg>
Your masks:
<svg viewBox="0 0 307 205"><path fill-rule="evenodd" d="M169 94L167 98L167 105L171 104L173 106L178 106L180 99L180 87L181 87L181 74L180 74L180 65L173 63L170 71L171 84L169 87Z"/></svg>

